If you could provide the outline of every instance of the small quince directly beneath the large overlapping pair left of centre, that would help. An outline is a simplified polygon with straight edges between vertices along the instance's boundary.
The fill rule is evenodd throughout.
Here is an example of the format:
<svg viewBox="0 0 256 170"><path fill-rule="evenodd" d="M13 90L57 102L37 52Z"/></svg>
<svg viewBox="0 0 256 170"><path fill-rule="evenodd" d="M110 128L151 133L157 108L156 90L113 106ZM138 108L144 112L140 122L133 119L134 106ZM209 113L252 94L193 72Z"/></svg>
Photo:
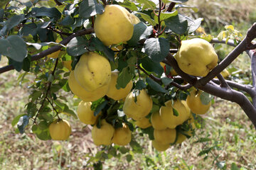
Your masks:
<svg viewBox="0 0 256 170"><path fill-rule="evenodd" d="M97 116L94 115L94 111L91 110L92 102L80 101L78 104L78 118L82 123L87 125L94 125L96 123Z"/></svg>

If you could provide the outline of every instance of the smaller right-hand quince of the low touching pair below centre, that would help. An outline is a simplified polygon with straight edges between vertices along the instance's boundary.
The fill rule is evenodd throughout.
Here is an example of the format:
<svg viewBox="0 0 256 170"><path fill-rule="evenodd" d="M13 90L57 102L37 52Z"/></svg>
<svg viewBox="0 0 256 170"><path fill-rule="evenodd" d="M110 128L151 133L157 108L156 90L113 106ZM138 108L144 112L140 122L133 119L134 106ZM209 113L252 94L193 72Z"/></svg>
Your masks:
<svg viewBox="0 0 256 170"><path fill-rule="evenodd" d="M132 140L132 132L129 127L123 123L122 128L117 128L114 130L114 137L112 142L116 145L124 146L128 145Z"/></svg>

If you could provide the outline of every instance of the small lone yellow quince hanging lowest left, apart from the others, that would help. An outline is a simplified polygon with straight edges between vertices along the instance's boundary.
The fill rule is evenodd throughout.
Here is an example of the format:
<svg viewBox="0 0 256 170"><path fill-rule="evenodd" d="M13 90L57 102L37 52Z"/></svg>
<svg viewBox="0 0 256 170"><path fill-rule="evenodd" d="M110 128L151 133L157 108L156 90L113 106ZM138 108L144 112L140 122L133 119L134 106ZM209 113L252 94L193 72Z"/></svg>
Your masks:
<svg viewBox="0 0 256 170"><path fill-rule="evenodd" d="M68 140L71 134L71 126L67 120L54 120L49 126L52 140Z"/></svg>

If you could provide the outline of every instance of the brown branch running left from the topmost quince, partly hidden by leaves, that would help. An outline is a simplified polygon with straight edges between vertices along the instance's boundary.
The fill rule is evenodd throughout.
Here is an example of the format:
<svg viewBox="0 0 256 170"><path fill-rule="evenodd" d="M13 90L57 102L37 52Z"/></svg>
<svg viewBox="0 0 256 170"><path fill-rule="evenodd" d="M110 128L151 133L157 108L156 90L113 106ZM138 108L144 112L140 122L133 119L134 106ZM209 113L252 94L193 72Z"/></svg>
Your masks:
<svg viewBox="0 0 256 170"><path fill-rule="evenodd" d="M60 41L60 44L62 44L62 45L67 45L68 42L70 42L70 40L72 40L73 38L78 37L78 36L81 36L81 35L90 34L90 33L93 33L93 32L94 32L93 28L80 30L80 31L78 31L77 33L73 33L72 35L68 36L68 37L65 38L64 40ZM43 57L46 57L46 55L50 55L51 53L60 50L61 47L62 47L62 46L60 46L60 45L55 45L55 46L53 46L53 47L48 48L47 50L44 50L44 51L42 51L42 52L39 52L39 53L36 54L36 55L32 55L32 56L31 56L31 61L39 60L39 59L41 59L41 58L43 58ZM8 65L8 66L5 66L5 67L1 67L1 68L0 68L0 74L3 73L3 72L8 72L8 71L10 71L11 69L14 69L14 66L13 66L13 65Z"/></svg>

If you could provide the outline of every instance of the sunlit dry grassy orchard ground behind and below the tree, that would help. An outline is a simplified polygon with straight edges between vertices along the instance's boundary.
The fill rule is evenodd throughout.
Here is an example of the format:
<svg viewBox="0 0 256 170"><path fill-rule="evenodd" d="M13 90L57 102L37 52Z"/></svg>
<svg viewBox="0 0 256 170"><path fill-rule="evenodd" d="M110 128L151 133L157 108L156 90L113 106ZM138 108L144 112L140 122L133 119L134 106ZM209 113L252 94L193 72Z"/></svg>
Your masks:
<svg viewBox="0 0 256 170"><path fill-rule="evenodd" d="M198 1L194 1L198 3ZM232 4L230 6L220 5ZM215 24L215 28L210 30L212 35L217 36L220 29L223 29L223 23L230 23L236 29L242 31L245 35L250 22L255 21L256 13L250 11L253 0L242 1L242 11L245 18L250 20L241 23L244 20L242 15L233 18L232 13L238 8L239 1L211 1L208 4L200 3L198 8L202 13L198 15L215 15L218 17L206 18L206 26ZM212 10L203 11L207 6L212 6ZM215 7L214 7L215 6ZM256 5L255 5L256 6ZM214 10L215 8L223 10ZM209 9L209 8L208 8ZM226 9L226 10L225 10ZM210 14L211 13L211 14ZM248 17L246 17L248 16ZM216 19L218 18L218 19ZM233 23L231 21L234 21ZM215 33L218 32L218 33ZM232 48L221 45L218 49L219 55L227 55ZM0 62L0 67L6 65L4 58ZM240 67L241 72L248 72L250 75L250 60L247 55L241 55L231 67ZM97 153L97 147L93 145L90 126L85 127L80 121L71 117L61 115L67 118L72 125L73 132L70 140L65 142L41 141L29 130L20 135L14 132L11 126L13 118L25 111L24 105L27 103L29 89L26 89L26 83L17 84L18 75L16 71L0 74L0 169L88 169L86 167L88 159ZM239 76L239 74L238 74ZM245 83L250 81L250 77L242 77ZM29 80L28 80L29 81ZM61 92L68 98L68 106L73 106L78 101L74 100L70 93ZM76 110L75 107L73 111ZM146 136L135 136L137 142L144 149L144 154L134 154L131 162L127 162L124 154L120 159L108 159L103 164L104 169L218 169L212 164L213 159L218 156L219 162L226 162L228 169L232 163L245 169L256 169L256 135L255 129L251 125L245 113L234 103L223 101L220 98L210 108L210 111L202 116L205 121L203 128L196 130L196 136L191 140L186 140L182 145L170 147L166 152L156 152L151 147L151 142ZM209 138L208 142L197 142L198 138ZM206 156L198 156L203 149L215 146ZM100 150L98 147L98 150ZM129 147L128 147L129 148ZM91 166L92 164L90 164Z"/></svg>

